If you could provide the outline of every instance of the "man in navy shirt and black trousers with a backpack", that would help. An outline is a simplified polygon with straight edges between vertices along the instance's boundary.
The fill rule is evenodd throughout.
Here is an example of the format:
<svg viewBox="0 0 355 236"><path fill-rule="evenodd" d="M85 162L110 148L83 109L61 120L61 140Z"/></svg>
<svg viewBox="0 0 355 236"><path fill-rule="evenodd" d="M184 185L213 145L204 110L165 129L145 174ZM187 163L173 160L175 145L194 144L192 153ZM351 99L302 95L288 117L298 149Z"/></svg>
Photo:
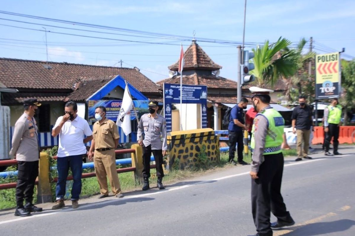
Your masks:
<svg viewBox="0 0 355 236"><path fill-rule="evenodd" d="M238 144L238 163L248 165L243 161L243 130L247 129L244 125L244 109L248 105L246 98L241 98L240 102L230 111L228 134L229 134L229 162L236 165L234 161L235 145Z"/></svg>

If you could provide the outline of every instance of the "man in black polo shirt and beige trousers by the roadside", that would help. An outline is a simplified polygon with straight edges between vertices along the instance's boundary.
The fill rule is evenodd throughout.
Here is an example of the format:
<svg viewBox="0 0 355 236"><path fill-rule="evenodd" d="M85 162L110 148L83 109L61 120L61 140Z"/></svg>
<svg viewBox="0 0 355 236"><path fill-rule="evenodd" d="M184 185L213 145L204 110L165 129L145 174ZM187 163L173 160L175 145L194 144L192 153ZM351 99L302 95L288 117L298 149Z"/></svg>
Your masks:
<svg viewBox="0 0 355 236"><path fill-rule="evenodd" d="M306 99L304 96L300 96L298 102L300 105L295 107L292 112L292 132L297 133L296 161L301 161L302 157L305 159L312 159L312 157L308 156L308 146L312 125L312 111L310 107L306 105ZM302 142L304 143L303 150Z"/></svg>

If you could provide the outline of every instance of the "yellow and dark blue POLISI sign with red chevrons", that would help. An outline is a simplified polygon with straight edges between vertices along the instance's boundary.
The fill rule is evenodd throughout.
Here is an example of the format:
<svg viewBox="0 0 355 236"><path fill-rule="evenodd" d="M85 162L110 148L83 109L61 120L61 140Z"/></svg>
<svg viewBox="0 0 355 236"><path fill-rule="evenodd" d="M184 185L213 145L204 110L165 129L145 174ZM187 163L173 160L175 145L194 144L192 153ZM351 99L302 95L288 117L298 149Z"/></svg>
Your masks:
<svg viewBox="0 0 355 236"><path fill-rule="evenodd" d="M339 52L316 55L316 99L340 95Z"/></svg>

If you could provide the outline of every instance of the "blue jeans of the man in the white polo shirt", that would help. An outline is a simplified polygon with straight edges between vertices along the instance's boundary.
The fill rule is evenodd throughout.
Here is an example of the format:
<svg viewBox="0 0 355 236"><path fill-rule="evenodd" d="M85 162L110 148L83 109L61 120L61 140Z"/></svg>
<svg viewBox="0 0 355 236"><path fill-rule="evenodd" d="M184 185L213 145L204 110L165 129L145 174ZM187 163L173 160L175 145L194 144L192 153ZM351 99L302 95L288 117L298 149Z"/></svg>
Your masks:
<svg viewBox="0 0 355 236"><path fill-rule="evenodd" d="M73 186L71 189L71 200L78 200L81 193L81 174L83 172L83 154L75 156L58 157L57 170L58 182L55 188L56 200L65 196L66 178L69 168L73 174Z"/></svg>

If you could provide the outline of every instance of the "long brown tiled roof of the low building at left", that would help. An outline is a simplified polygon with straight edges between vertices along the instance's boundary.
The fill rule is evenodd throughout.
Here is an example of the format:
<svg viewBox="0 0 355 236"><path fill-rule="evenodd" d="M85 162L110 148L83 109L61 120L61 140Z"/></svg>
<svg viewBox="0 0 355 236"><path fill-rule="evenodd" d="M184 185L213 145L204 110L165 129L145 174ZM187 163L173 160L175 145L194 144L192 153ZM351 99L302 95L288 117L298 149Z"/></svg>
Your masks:
<svg viewBox="0 0 355 236"><path fill-rule="evenodd" d="M83 76L113 75L121 75L142 93L159 93L159 86L132 68L0 58L0 82L9 88L72 90Z"/></svg>

